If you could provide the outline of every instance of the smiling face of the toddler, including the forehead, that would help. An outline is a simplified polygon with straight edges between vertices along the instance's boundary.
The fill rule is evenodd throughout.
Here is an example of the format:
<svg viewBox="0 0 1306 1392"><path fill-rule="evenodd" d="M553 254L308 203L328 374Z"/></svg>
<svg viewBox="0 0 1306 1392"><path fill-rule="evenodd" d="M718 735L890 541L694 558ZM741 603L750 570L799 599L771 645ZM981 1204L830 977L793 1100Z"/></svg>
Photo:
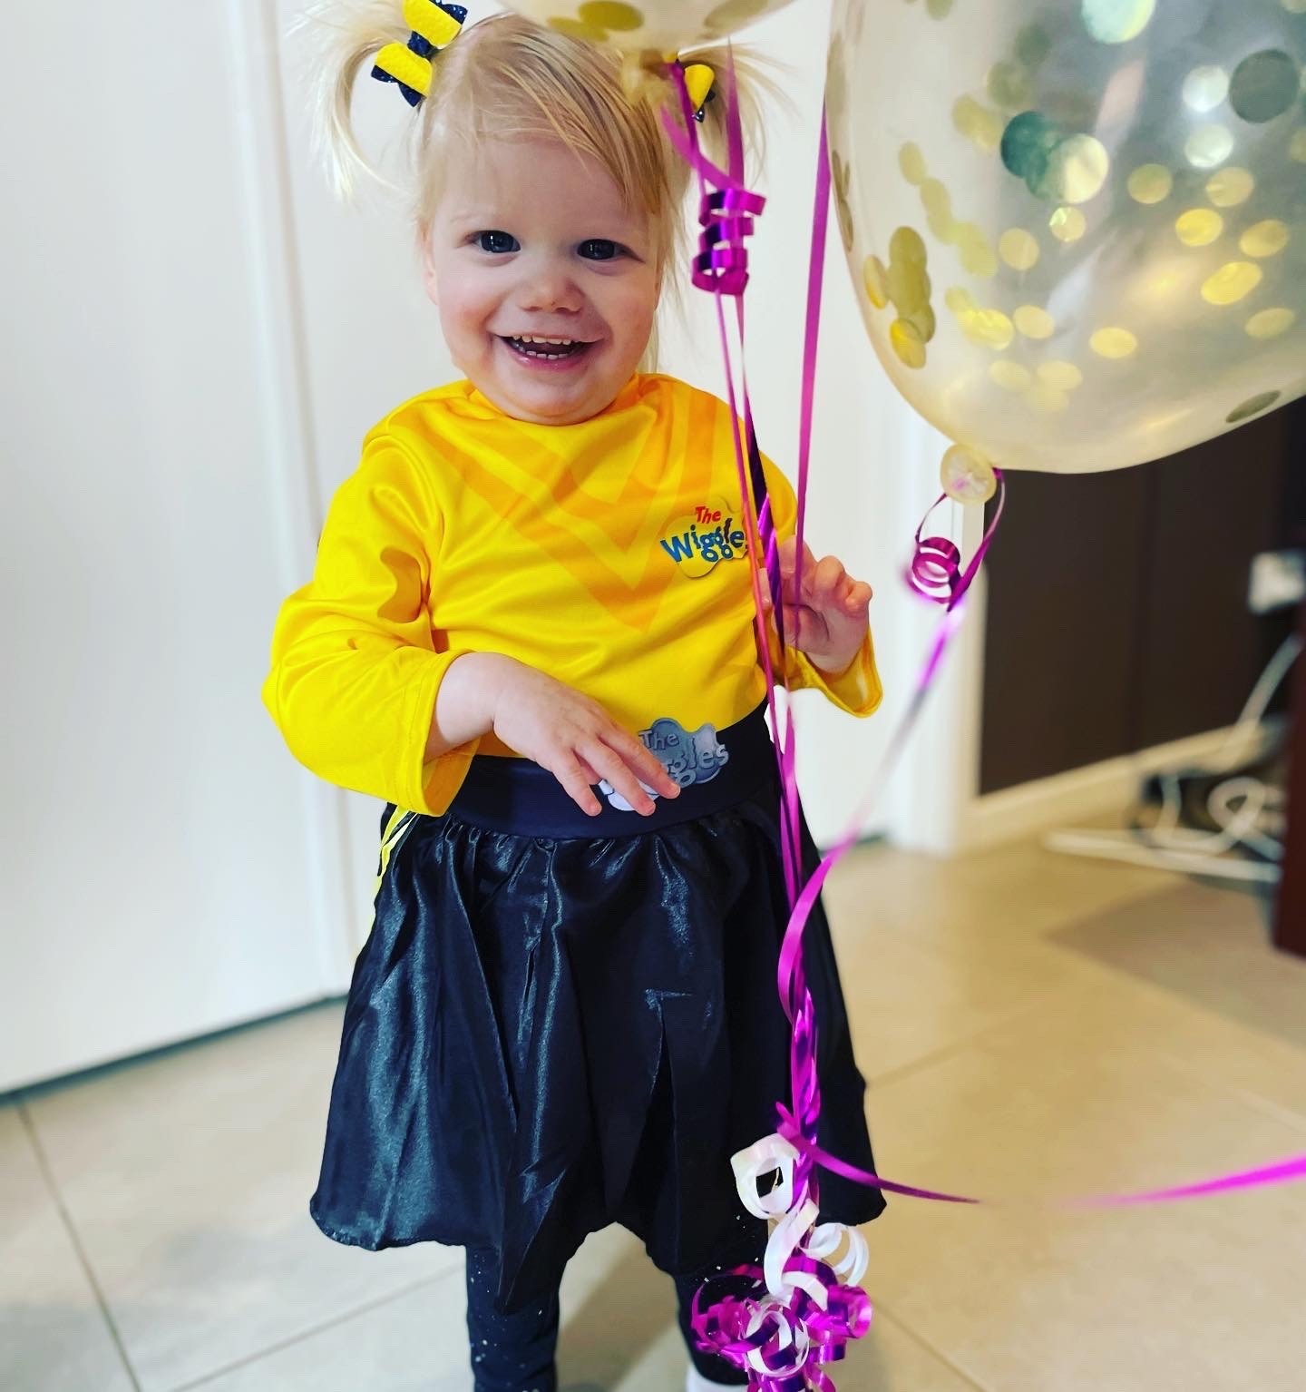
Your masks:
<svg viewBox="0 0 1306 1392"><path fill-rule="evenodd" d="M453 361L519 420L587 420L648 345L659 290L652 221L562 143L449 145L424 264Z"/></svg>

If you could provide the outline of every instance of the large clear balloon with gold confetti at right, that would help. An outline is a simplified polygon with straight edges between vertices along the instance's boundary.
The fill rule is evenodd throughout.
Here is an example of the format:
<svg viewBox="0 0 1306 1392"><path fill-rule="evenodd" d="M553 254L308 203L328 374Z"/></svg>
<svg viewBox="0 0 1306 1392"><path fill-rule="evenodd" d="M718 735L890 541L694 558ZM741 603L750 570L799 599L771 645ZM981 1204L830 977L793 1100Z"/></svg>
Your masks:
<svg viewBox="0 0 1306 1392"><path fill-rule="evenodd" d="M836 0L839 226L954 496L1306 391L1303 64L1306 0Z"/></svg>

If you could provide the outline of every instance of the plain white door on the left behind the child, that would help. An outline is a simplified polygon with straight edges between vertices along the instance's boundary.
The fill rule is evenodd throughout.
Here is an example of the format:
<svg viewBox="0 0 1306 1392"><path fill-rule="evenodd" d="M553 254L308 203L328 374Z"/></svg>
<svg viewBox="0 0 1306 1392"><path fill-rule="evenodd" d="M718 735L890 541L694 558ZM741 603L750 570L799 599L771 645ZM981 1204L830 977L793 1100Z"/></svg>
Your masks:
<svg viewBox="0 0 1306 1392"><path fill-rule="evenodd" d="M314 536L271 24L0 26L4 1090L314 999L348 944L339 798L259 700Z"/></svg>

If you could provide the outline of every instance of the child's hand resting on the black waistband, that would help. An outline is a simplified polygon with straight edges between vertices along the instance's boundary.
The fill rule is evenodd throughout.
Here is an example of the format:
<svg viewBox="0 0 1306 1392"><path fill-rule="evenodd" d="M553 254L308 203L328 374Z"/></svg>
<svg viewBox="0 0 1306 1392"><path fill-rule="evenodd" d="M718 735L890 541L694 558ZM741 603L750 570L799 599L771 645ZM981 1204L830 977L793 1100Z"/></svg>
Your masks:
<svg viewBox="0 0 1306 1392"><path fill-rule="evenodd" d="M604 780L645 817L655 805L641 781L663 798L680 795L680 785L656 756L598 702L524 663L499 661L503 667L492 707L495 735L548 768L581 812L594 817L602 810L591 789Z"/></svg>

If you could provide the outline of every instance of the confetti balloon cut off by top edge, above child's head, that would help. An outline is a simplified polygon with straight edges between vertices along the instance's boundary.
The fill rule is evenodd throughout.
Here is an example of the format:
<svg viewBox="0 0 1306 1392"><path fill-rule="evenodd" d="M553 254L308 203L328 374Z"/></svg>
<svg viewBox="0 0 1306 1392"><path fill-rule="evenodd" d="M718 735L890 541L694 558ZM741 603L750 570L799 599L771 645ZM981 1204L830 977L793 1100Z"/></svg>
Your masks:
<svg viewBox="0 0 1306 1392"><path fill-rule="evenodd" d="M665 57L719 43L790 0L509 0L513 10L577 39Z"/></svg>

